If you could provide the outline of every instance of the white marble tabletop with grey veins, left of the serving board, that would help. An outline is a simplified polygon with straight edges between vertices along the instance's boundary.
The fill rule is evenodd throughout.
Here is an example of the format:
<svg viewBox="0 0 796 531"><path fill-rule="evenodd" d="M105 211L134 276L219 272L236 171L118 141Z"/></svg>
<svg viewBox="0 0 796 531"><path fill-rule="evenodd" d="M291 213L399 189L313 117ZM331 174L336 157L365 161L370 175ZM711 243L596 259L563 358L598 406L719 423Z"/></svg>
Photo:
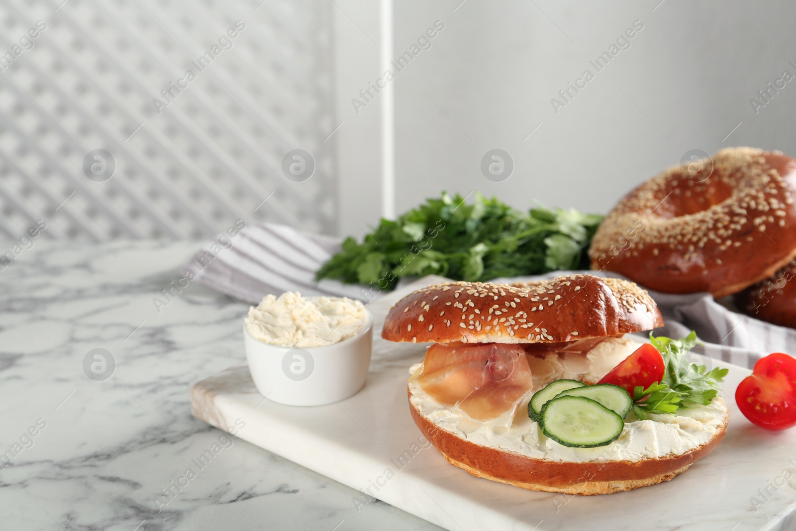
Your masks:
<svg viewBox="0 0 796 531"><path fill-rule="evenodd" d="M37 240L0 271L0 529L439 529L357 513L355 490L240 439L158 507L221 435L190 385L245 359L244 305L193 284L153 302L197 247ZM92 349L115 358L106 380L84 373Z"/></svg>

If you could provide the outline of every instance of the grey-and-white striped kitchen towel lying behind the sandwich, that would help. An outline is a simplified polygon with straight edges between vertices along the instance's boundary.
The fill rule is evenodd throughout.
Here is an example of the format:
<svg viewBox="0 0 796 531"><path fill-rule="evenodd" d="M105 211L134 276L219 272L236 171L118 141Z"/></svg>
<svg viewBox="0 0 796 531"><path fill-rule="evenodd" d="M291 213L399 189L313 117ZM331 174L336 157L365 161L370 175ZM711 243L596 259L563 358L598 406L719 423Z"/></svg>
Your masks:
<svg viewBox="0 0 796 531"><path fill-rule="evenodd" d="M286 225L253 225L205 244L186 270L199 283L254 304L265 295L284 291L349 297L365 303L380 296L375 287L346 285L337 280L315 281L315 271L340 250L341 242L340 238L302 232ZM610 271L553 271L495 281L550 279L573 272L621 277ZM696 330L705 342L704 353L712 357L751 367L760 356L771 352L796 354L796 330L739 314L732 309L732 303L718 303L708 293L672 295L650 291L650 295L666 323L661 332L682 338Z"/></svg>

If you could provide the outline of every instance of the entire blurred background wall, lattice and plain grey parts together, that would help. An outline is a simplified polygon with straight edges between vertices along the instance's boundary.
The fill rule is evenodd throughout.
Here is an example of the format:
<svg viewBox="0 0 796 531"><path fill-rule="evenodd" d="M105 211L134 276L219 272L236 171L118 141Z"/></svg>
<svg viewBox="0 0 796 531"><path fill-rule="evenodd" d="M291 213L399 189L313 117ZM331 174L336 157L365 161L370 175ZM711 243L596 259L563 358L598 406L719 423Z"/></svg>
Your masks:
<svg viewBox="0 0 796 531"><path fill-rule="evenodd" d="M0 53L33 42L7 68L0 57L7 236L48 217L48 237L78 240L201 238L238 218L361 236L377 222L384 0L61 2L0 5ZM236 21L232 47L193 67ZM394 0L392 57L411 59L389 81L387 196L398 213L442 189L604 213L693 150L796 154L794 26L784 0ZM310 178L294 155L283 167L297 149ZM494 149L507 179L482 173ZM115 161L106 181L84 170L93 150Z"/></svg>

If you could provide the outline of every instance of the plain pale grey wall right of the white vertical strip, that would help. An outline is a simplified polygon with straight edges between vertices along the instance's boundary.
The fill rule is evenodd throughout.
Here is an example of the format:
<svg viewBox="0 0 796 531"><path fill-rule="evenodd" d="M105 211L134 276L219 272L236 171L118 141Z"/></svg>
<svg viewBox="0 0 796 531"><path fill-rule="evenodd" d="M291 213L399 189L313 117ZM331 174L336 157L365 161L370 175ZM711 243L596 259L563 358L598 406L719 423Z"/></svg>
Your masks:
<svg viewBox="0 0 796 531"><path fill-rule="evenodd" d="M796 81L757 115L749 103L784 69L796 75L792 2L459 2L396 2L396 55L445 25L394 82L399 213L442 189L604 213L691 149L796 154ZM630 49L596 72L589 61L636 20ZM586 68L595 78L556 114L550 100ZM493 148L514 159L505 182L481 174ZM375 223L372 182L341 179L361 181L346 201L362 205L360 225ZM341 229L361 235L345 220Z"/></svg>

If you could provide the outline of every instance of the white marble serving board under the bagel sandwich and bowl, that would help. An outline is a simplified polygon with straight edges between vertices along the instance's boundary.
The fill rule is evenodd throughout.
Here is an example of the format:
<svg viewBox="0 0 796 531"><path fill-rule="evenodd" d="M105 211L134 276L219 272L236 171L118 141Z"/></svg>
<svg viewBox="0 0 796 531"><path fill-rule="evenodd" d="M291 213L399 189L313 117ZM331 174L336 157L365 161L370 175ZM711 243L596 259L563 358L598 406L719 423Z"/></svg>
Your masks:
<svg viewBox="0 0 796 531"><path fill-rule="evenodd" d="M392 303L433 282L426 277L369 305L373 361L355 396L317 408L275 404L241 366L193 386L194 416L225 431L245 424L241 439L445 529L796 529L796 428L776 433L749 423L733 396L750 371L721 361L709 362L731 369L724 384L727 435L671 482L603 496L532 492L474 478L423 447L408 412L406 379L425 347L385 342L379 334ZM399 461L401 455L408 457ZM755 508L753 497L762 505ZM351 507L372 500L353 497Z"/></svg>

